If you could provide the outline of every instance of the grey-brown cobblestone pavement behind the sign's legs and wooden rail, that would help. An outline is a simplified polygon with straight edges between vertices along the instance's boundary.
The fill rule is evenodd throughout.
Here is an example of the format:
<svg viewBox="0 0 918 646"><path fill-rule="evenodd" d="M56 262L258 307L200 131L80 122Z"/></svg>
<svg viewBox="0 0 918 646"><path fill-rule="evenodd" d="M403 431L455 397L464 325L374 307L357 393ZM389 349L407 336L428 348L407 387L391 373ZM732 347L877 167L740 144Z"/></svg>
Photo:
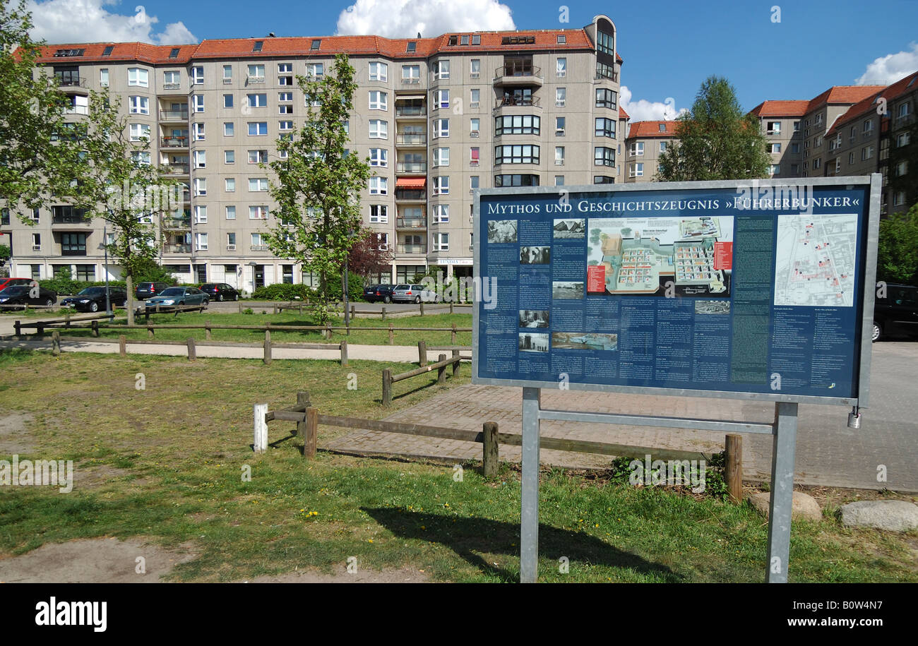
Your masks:
<svg viewBox="0 0 918 646"><path fill-rule="evenodd" d="M848 486L918 491L918 343L874 344L870 407L860 429L847 428L848 408L800 405L797 481L806 485ZM498 422L501 432L521 432L521 388L465 385L399 411L393 421L481 429ZM770 423L774 404L739 399L662 397L543 390L543 408L630 413L688 418L720 418ZM628 428L543 421L543 436L615 442L631 446L685 451L721 451L723 433L704 430ZM480 460L481 445L459 440L421 438L379 431L356 431L325 448L335 451L399 453L449 460ZM520 448L504 446L500 458L520 461ZM606 456L542 451L544 463L568 467L601 467ZM771 470L771 437L744 434L744 475L767 479ZM885 466L887 481L878 481Z"/></svg>

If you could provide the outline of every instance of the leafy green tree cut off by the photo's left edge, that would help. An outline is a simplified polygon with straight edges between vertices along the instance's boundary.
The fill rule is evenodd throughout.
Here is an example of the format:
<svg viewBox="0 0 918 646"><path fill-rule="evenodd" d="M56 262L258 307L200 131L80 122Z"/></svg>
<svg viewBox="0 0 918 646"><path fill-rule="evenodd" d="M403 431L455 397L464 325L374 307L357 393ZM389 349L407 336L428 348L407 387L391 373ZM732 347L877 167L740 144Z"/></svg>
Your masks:
<svg viewBox="0 0 918 646"><path fill-rule="evenodd" d="M69 99L37 65L43 43L31 28L25 0L0 0L0 197L29 225L28 209L69 190L79 153L59 140Z"/></svg>

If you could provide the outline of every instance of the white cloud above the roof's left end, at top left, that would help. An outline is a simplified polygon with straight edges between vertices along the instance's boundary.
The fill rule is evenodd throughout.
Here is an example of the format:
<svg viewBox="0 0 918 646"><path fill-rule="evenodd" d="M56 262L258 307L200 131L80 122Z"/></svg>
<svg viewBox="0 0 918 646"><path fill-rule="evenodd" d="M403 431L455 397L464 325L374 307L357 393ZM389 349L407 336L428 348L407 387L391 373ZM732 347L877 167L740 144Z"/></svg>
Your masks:
<svg viewBox="0 0 918 646"><path fill-rule="evenodd" d="M35 27L32 37L50 43L65 42L150 42L173 45L197 42L182 22L169 23L156 32L159 18L149 16L142 5L125 16L108 11L120 0L47 0L28 2ZM131 3L132 5L134 3ZM126 7L127 8L127 7ZM130 9L128 9L130 10Z"/></svg>

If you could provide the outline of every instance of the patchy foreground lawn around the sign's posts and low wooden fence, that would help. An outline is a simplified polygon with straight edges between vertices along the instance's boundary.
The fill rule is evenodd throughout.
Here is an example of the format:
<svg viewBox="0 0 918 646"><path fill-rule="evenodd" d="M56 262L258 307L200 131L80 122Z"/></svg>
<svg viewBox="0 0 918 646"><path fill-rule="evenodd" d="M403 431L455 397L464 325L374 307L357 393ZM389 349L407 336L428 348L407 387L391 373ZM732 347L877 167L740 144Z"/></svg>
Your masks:
<svg viewBox="0 0 918 646"><path fill-rule="evenodd" d="M252 404L290 406L297 390L323 413L385 417L378 376L386 366L351 363L0 351L0 418L31 416L30 446L7 443L0 457L69 459L75 471L66 495L0 489L0 558L46 542L143 537L194 546L198 557L177 565L174 581L331 572L349 556L364 568L407 565L435 581L518 580L520 480L508 465L495 479L466 465L457 482L447 463L324 451L307 462L298 439L252 453ZM136 373L145 390L135 389ZM347 389L348 373L356 390ZM454 384L468 383L463 373ZM425 378L396 384L407 395L393 410L453 387L419 388ZM272 422L270 439L293 427ZM321 427L319 449L343 432ZM241 478L245 465L251 482ZM764 578L767 522L748 505L560 470L543 473L541 496L543 581ZM845 529L834 518L795 522L790 579L918 581L916 539ZM563 556L569 574L558 572Z"/></svg>

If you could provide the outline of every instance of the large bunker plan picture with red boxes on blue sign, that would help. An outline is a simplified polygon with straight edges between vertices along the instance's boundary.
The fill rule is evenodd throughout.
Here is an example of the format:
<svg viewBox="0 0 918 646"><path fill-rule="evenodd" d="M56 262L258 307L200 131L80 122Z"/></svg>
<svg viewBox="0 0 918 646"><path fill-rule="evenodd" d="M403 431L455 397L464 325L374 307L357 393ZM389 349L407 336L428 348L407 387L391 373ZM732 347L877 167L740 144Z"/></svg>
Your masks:
<svg viewBox="0 0 918 646"><path fill-rule="evenodd" d="M591 218L588 292L728 295L732 217Z"/></svg>

